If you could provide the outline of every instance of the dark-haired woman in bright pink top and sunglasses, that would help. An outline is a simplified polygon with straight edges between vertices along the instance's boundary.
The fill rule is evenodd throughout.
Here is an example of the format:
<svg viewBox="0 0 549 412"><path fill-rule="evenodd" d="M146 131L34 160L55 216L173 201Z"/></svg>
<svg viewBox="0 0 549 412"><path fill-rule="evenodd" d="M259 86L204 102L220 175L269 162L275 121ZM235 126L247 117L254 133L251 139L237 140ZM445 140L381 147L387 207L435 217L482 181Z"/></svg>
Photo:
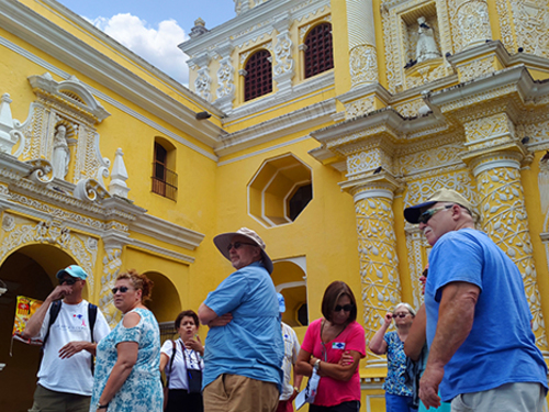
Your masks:
<svg viewBox="0 0 549 412"><path fill-rule="evenodd" d="M350 288L334 281L324 292L322 314L309 325L298 356L296 372L321 380L310 412L358 412L358 364L366 356L365 330L356 322L357 302ZM352 358L352 361L343 360Z"/></svg>

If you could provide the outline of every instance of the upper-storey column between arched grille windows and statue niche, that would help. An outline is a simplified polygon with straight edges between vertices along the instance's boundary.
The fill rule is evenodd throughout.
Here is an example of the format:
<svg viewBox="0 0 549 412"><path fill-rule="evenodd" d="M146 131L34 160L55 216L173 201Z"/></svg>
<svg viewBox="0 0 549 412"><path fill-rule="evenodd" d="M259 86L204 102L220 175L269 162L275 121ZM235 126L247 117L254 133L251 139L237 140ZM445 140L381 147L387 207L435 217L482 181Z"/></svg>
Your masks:
<svg viewBox="0 0 549 412"><path fill-rule="evenodd" d="M351 88L378 81L373 2L346 0Z"/></svg>

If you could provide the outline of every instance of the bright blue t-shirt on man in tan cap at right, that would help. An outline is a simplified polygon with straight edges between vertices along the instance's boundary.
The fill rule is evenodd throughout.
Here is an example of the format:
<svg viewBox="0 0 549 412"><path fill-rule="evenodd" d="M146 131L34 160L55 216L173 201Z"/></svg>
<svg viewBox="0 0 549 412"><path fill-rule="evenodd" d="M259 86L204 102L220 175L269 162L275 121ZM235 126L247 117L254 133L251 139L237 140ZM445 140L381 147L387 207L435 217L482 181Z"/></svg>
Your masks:
<svg viewBox="0 0 549 412"><path fill-rule="evenodd" d="M512 382L540 382L547 388L547 366L531 331L522 275L483 232L449 232L433 247L425 288L429 348L444 288L455 281L477 285L480 296L472 330L445 366L442 400Z"/></svg>

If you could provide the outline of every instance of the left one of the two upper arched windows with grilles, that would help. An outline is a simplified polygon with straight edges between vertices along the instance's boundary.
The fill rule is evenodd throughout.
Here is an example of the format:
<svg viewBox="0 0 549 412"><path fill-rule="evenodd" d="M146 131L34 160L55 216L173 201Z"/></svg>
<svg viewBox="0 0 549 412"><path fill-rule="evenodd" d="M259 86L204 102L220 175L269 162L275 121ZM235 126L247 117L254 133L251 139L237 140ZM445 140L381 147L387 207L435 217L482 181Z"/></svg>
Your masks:
<svg viewBox="0 0 549 412"><path fill-rule="evenodd" d="M254 53L246 63L244 77L244 101L248 101L272 91L271 54L266 49Z"/></svg>

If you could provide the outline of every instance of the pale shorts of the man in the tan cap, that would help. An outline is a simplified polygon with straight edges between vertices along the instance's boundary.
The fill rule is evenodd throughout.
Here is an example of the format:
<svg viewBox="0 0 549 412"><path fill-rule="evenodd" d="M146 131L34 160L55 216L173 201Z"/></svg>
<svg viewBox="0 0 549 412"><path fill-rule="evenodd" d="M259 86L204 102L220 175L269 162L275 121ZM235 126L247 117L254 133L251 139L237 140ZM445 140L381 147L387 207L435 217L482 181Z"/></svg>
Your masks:
<svg viewBox="0 0 549 412"><path fill-rule="evenodd" d="M482 392L458 394L451 412L542 412L547 390L540 383L506 383Z"/></svg>

